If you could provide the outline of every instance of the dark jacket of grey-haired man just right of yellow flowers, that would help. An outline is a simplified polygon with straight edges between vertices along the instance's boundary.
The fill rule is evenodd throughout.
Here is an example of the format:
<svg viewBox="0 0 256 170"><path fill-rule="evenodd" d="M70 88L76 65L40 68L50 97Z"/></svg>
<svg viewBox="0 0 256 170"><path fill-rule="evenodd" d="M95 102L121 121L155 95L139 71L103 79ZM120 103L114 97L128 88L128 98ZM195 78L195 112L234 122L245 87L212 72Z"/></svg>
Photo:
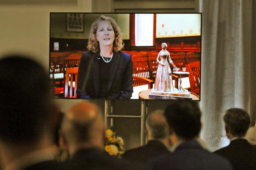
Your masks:
<svg viewBox="0 0 256 170"><path fill-rule="evenodd" d="M150 140L145 146L126 151L122 158L146 164L150 159L164 153L169 153L169 151L162 142Z"/></svg>

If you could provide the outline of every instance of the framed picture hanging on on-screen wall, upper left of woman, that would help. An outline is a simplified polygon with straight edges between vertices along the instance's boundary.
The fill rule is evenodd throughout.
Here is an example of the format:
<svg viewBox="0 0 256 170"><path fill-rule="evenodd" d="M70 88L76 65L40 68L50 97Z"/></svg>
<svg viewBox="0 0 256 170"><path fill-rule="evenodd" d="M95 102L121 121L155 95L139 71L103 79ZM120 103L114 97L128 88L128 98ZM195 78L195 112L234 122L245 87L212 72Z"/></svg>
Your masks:
<svg viewBox="0 0 256 170"><path fill-rule="evenodd" d="M83 14L70 13L66 14L67 32L83 33Z"/></svg>

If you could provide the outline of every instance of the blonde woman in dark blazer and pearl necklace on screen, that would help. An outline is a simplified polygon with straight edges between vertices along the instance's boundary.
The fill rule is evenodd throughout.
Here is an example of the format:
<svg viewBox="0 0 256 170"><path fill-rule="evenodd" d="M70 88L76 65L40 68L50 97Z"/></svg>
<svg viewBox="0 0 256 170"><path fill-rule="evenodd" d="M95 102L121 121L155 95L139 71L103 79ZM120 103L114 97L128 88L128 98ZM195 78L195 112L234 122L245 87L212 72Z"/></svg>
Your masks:
<svg viewBox="0 0 256 170"><path fill-rule="evenodd" d="M91 26L88 50L78 69L78 98L130 99L133 93L133 64L121 52L124 43L113 18L101 16Z"/></svg>

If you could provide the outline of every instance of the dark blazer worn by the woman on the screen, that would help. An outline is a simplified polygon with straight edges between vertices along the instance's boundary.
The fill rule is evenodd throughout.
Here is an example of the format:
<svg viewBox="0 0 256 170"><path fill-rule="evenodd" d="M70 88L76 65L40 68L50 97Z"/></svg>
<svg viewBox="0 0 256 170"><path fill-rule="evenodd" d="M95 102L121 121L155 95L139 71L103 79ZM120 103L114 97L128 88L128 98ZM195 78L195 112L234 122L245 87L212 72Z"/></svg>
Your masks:
<svg viewBox="0 0 256 170"><path fill-rule="evenodd" d="M98 98L99 52L83 52L78 69L78 98ZM118 51L113 54L108 82L107 98L130 99L133 93L133 64L130 54Z"/></svg>

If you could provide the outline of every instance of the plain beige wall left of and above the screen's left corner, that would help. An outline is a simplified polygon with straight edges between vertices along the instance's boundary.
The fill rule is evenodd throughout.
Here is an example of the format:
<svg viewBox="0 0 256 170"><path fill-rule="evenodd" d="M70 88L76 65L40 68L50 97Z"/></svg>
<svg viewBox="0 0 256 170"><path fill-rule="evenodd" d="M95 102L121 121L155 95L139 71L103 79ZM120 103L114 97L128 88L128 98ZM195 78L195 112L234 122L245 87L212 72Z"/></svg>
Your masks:
<svg viewBox="0 0 256 170"><path fill-rule="evenodd" d="M18 4L0 2L0 56L30 54L49 67L50 12L91 12L91 0L71 4Z"/></svg>

